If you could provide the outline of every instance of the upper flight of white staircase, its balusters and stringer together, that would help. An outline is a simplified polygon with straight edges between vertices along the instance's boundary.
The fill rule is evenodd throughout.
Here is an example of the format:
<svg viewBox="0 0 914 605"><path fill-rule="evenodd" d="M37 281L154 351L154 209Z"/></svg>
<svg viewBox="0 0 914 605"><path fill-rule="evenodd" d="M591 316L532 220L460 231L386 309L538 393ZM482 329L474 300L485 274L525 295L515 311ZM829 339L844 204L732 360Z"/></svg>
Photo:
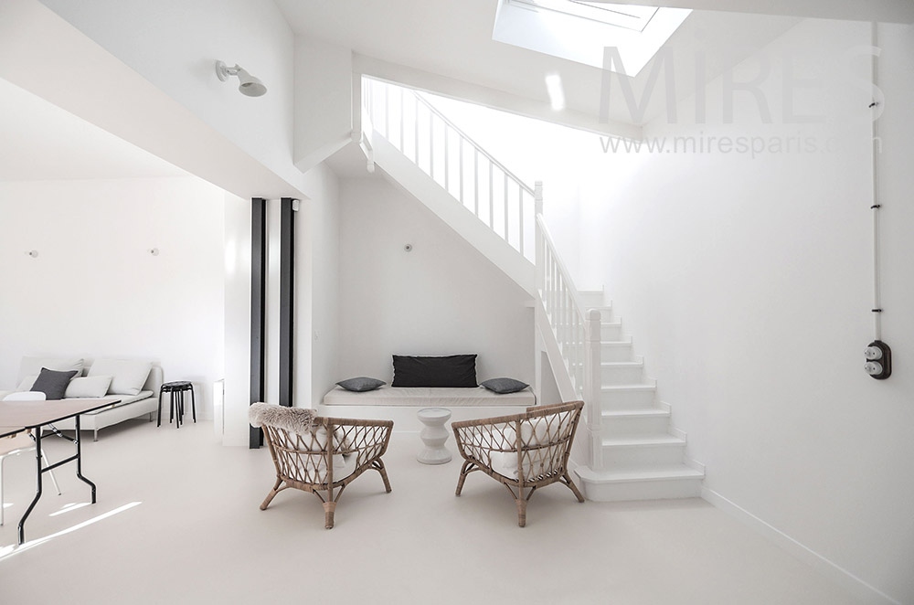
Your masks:
<svg viewBox="0 0 914 605"><path fill-rule="evenodd" d="M538 187L527 186L414 90L362 83L369 161L531 296Z"/></svg>

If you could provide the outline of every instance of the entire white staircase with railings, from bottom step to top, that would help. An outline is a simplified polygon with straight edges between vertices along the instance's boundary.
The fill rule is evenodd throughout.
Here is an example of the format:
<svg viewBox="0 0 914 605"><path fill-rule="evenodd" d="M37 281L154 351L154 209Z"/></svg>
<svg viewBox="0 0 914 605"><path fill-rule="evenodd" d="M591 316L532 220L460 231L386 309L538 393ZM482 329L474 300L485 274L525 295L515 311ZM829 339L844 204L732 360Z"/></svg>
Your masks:
<svg viewBox="0 0 914 605"><path fill-rule="evenodd" d="M702 465L685 456L632 338L603 300L578 291L542 217L542 187L525 185L420 94L363 80L362 146L377 164L536 300L537 331L565 400L583 399L590 500L696 497ZM538 384L537 384L538 387ZM581 439L583 438L583 439Z"/></svg>

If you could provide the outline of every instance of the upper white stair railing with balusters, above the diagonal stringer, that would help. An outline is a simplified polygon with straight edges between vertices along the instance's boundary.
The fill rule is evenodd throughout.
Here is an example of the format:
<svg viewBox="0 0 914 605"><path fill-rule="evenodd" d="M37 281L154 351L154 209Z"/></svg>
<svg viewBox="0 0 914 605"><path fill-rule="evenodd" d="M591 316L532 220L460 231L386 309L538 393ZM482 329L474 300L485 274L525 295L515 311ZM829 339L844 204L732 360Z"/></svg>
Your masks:
<svg viewBox="0 0 914 605"><path fill-rule="evenodd" d="M375 131L527 260L536 257L536 190L416 90L362 79Z"/></svg>

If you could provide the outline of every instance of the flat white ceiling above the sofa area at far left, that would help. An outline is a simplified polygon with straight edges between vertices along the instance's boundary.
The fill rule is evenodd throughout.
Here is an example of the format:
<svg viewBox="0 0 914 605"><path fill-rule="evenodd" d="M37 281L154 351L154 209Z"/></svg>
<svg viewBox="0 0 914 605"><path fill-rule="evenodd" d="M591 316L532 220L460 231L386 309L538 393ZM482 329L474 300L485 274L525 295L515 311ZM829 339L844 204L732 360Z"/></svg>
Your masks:
<svg viewBox="0 0 914 605"><path fill-rule="evenodd" d="M187 173L0 79L0 181L180 175Z"/></svg>

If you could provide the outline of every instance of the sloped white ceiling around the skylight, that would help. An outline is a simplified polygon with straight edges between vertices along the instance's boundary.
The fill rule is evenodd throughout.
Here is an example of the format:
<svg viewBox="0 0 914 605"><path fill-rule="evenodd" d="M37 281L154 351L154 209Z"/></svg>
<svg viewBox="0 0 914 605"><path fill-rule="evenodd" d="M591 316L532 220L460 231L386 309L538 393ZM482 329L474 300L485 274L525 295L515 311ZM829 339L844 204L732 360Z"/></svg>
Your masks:
<svg viewBox="0 0 914 605"><path fill-rule="evenodd" d="M497 0L274 0L296 34L353 48L370 57L548 103L545 79L558 73L567 106L600 114L602 70L492 39ZM695 11L670 38L675 52L675 98L696 90L696 53L707 57L707 80L719 75L795 25L797 17ZM633 82L640 95L652 65ZM661 78L660 80L663 80ZM702 82L704 85L704 82ZM658 84L641 121L632 120L622 95L611 99L609 118L648 122L664 112Z"/></svg>

